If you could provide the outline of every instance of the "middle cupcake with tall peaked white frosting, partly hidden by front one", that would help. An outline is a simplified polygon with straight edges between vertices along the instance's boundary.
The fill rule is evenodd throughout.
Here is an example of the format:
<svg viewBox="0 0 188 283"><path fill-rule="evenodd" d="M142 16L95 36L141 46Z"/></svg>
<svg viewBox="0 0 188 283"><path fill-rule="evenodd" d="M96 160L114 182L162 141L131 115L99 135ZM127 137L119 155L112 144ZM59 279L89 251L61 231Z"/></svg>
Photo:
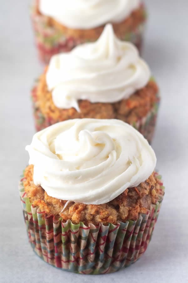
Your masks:
<svg viewBox="0 0 188 283"><path fill-rule="evenodd" d="M97 42L53 56L32 100L36 130L67 119L121 119L151 142L159 94L138 50L107 25Z"/></svg>

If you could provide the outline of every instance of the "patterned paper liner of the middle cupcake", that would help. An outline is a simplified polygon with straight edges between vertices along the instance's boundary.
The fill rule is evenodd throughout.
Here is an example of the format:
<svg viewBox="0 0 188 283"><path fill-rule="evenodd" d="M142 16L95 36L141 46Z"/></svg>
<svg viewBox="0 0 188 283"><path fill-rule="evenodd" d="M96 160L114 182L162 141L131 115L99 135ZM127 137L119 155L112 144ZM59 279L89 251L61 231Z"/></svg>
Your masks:
<svg viewBox="0 0 188 283"><path fill-rule="evenodd" d="M57 119L52 119L51 117L45 117L42 114L37 102L37 87L38 80L35 81L34 87L31 90L31 99L33 106L35 129L36 131L40 131L60 121ZM133 121L132 123L130 123L148 140L149 143L152 142L154 136L155 125L159 110L159 103L160 97L159 94L157 94L157 102L154 104L153 108L148 112L148 114L145 117L138 119L137 122Z"/></svg>

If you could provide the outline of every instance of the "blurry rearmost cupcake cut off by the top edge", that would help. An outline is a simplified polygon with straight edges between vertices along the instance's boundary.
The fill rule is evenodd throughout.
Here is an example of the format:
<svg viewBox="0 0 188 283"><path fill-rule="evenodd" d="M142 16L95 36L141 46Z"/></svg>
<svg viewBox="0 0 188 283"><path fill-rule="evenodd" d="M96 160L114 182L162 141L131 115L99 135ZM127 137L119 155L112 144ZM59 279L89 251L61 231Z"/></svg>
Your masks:
<svg viewBox="0 0 188 283"><path fill-rule="evenodd" d="M107 23L140 49L146 12L140 0L35 0L31 18L39 57L48 63L54 54L96 41Z"/></svg>

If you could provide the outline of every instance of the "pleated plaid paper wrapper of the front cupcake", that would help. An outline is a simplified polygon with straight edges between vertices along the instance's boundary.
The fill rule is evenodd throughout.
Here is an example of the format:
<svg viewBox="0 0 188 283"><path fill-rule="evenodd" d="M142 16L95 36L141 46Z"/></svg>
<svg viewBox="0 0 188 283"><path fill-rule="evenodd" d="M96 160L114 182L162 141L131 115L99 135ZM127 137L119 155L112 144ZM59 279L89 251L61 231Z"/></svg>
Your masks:
<svg viewBox="0 0 188 283"><path fill-rule="evenodd" d="M164 196L162 181L156 204L147 214L140 214L137 221L86 226L70 220L63 223L61 218L46 216L33 207L24 192L23 180L19 191L29 242L48 264L80 274L106 274L134 263L147 249Z"/></svg>

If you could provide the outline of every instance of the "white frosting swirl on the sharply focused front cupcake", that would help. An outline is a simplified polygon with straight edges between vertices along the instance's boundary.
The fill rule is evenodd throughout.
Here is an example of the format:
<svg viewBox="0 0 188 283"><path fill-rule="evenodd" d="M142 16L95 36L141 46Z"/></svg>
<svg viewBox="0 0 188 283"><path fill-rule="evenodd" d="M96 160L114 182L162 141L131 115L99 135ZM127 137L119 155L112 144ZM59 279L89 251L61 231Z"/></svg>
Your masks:
<svg viewBox="0 0 188 283"><path fill-rule="evenodd" d="M132 126L115 119L73 119L36 133L29 152L34 184L58 199L107 203L152 174L156 157Z"/></svg>

